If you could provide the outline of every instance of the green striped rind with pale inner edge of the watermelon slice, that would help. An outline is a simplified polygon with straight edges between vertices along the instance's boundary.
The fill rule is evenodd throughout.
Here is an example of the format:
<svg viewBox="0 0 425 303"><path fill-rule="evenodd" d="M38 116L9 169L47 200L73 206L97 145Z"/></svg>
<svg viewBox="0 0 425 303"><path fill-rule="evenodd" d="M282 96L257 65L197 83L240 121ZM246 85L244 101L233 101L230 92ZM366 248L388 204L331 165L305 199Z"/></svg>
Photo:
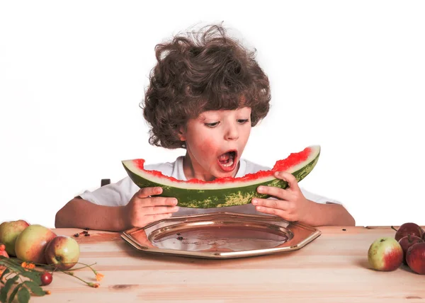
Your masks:
<svg viewBox="0 0 425 303"><path fill-rule="evenodd" d="M287 170L288 173L292 173L295 176L298 182L312 171L319 160L320 147L314 146L310 148L312 148L312 153L307 160ZM138 187L159 186L162 188L162 194L159 196L176 198L178 205L181 207L212 208L245 205L250 203L252 198L270 197L270 195L261 194L256 191L260 185L275 186L283 189L288 188L286 181L275 178L274 176L260 177L250 181L242 181L239 178L234 178L234 181L229 183L172 181L167 176L157 177L149 175L149 171L137 168L132 164L132 160L125 160L122 163L128 176L130 176L131 180ZM145 178L140 176L141 174L144 174Z"/></svg>

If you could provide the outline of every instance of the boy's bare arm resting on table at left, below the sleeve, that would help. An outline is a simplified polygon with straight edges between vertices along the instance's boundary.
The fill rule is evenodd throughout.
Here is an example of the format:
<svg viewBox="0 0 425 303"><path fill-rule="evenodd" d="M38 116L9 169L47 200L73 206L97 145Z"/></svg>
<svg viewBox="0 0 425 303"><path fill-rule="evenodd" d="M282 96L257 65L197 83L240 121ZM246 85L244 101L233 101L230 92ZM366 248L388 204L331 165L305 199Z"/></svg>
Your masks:
<svg viewBox="0 0 425 303"><path fill-rule="evenodd" d="M124 222L124 212L124 206L96 205L77 197L56 213L55 227L122 231L129 228Z"/></svg>

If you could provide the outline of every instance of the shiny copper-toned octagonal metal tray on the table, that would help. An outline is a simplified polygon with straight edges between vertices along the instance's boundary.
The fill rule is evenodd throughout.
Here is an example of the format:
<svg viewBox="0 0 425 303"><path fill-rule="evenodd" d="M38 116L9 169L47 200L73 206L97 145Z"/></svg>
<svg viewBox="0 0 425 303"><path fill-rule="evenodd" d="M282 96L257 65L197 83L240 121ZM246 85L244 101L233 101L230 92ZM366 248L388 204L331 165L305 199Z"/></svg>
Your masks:
<svg viewBox="0 0 425 303"><path fill-rule="evenodd" d="M215 212L162 219L120 236L138 251L222 259L295 251L320 234L279 217Z"/></svg>

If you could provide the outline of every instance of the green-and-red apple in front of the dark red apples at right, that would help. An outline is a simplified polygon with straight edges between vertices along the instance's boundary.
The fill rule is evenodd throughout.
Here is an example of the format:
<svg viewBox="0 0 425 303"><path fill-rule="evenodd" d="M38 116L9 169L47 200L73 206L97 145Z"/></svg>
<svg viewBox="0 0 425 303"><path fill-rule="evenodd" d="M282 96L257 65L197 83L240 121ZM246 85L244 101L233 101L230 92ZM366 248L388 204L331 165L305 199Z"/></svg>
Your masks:
<svg viewBox="0 0 425 303"><path fill-rule="evenodd" d="M396 270L403 262L403 248L394 238L376 239L370 244L368 261L375 270Z"/></svg>

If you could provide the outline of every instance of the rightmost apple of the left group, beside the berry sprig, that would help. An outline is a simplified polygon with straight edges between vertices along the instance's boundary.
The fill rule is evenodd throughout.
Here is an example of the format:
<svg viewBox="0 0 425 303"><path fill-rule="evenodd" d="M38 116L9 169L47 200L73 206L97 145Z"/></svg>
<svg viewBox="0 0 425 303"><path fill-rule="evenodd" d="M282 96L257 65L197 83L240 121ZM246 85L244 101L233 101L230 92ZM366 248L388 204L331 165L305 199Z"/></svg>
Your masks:
<svg viewBox="0 0 425 303"><path fill-rule="evenodd" d="M47 244L45 257L55 268L68 270L79 260L79 244L70 236L56 236Z"/></svg>

